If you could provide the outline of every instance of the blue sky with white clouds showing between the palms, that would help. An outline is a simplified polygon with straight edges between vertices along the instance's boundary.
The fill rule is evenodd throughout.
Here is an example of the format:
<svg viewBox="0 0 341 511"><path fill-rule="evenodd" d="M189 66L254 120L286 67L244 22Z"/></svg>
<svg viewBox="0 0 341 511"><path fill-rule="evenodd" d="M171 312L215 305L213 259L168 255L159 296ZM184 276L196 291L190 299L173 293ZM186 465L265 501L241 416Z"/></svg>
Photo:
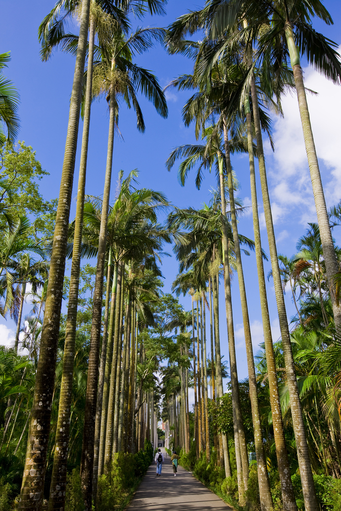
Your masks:
<svg viewBox="0 0 341 511"><path fill-rule="evenodd" d="M44 2L41 0L31 0L31 2L0 0L0 52L11 51L12 61L5 74L18 88L21 99L19 140L25 141L27 145L33 147L43 169L50 172L50 176L40 182L41 192L46 199L55 198L59 193L75 64L73 57L61 52L56 52L47 63L40 61L37 29L54 3L54 0L45 0ZM188 10L197 9L201 5L202 2L192 2L191 0L170 0L165 17L146 17L137 24L165 27L176 17ZM325 6L332 14L335 25L327 27L322 22L316 22L313 26L317 31L323 32L340 44L341 3L338 0L328 0L325 2ZM139 56L137 61L140 65L151 69L163 87L177 75L191 72L189 60L180 56L169 56L161 47ZM341 199L341 164L338 155L340 140L338 116L341 110L341 95L338 87L327 82L309 67L305 67L304 72L307 86L319 92L317 97L309 96L308 103L329 207ZM113 150L112 198L115 195L118 171L123 169L127 174L130 170L138 168L141 186L165 192L168 199L178 207L199 207L203 202L210 200L209 190L215 185L213 176L207 175L201 190L197 191L194 185L194 173L190 174L185 187L181 188L176 178L177 169L174 167L173 171L168 173L165 168L165 161L172 148L195 142L193 129L185 128L181 121L181 109L188 94L168 90L167 98L169 106L167 120L161 119L154 108L146 100L141 99L146 123L146 132L143 135L136 129L133 111L128 111L124 106L121 108L119 127L123 140L117 138ZM284 119L274 118L276 152L272 154L267 144L265 144L265 149L278 252L291 256L295 251L298 238L304 234L307 222L315 221L316 215L297 98L294 96L284 98L283 109ZM82 125L80 124L79 142L81 141L81 130ZM86 193L92 195L103 193L107 134L108 111L106 102L102 100L93 104L90 124ZM79 152L75 169L74 197L77 193ZM244 201L244 205L249 205L251 193L249 191L248 159L245 156L236 156L233 157L232 163L241 185L237 195ZM268 253L266 230L264 221L262 221L260 187L258 197L262 244ZM74 217L74 212L75 201L72 204L71 218ZM341 237L337 229L340 229L341 233L341 227L338 227L334 230L333 235L337 243L340 244ZM253 238L251 210L240 219L239 231L241 234ZM243 256L243 263L256 352L257 345L262 342L262 325L254 254L251 254L250 257ZM167 292L177 273L175 258L166 258L162 270L165 276L164 291ZM270 265L266 263L265 272L267 273L269 270ZM274 340L277 340L279 327L275 293L271 281L267 288ZM245 378L247 376L246 354L243 346L237 276L233 280L232 293L238 371L239 377ZM190 309L189 298L181 298L181 303L186 309ZM288 317L293 316L295 311L289 294L286 294L286 305ZM220 306L221 350L225 354L225 358L228 358L222 293ZM29 309L30 307L27 306L27 310ZM0 317L0 342L6 342L11 338L14 328L14 323L10 318L6 321Z"/></svg>

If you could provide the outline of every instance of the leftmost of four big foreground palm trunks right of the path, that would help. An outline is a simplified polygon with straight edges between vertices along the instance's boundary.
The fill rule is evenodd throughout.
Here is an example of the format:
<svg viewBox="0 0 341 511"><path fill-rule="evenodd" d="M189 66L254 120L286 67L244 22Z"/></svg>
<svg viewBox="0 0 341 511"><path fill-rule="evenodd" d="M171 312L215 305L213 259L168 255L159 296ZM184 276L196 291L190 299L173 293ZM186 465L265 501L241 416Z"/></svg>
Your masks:
<svg viewBox="0 0 341 511"><path fill-rule="evenodd" d="M220 196L221 196L221 214L226 218L226 201L225 201L225 189L223 179L223 161L221 157L219 159L219 176L220 176ZM222 248L223 248L223 265L224 265L224 291L225 291L225 308L226 308L226 322L228 326L229 336L229 355L230 355L230 369L231 369L231 387L232 387L232 401L236 411L236 426L238 428L239 448L241 454L241 463L243 470L244 490L247 490L248 480L248 456L245 441L245 432L243 425L243 417L241 413L241 404L239 397L239 385L238 385L238 373L237 373L237 361L236 361L236 349L235 349L235 334L233 327L233 313L232 313L232 298L231 298L231 282L230 282L230 264L229 264L229 241L228 232L226 229L225 222L222 222ZM214 311L215 312L215 311ZM216 357L217 357L217 344L216 344ZM221 366L220 366L220 344L219 344L219 361L217 358L217 384L218 392L220 394L219 385L221 385L222 395L222 379L221 379ZM219 382L221 380L221 384ZM220 396L219 396L220 397ZM237 449L237 448L236 448ZM242 492L240 492L242 493Z"/></svg>

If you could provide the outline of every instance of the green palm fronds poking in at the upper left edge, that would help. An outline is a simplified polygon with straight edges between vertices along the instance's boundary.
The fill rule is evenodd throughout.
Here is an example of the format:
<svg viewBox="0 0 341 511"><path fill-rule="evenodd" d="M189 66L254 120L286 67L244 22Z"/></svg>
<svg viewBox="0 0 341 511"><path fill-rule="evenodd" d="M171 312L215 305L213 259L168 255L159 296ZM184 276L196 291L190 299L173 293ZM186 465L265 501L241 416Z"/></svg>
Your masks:
<svg viewBox="0 0 341 511"><path fill-rule="evenodd" d="M11 60L10 52L0 54L0 146L12 145L19 131L18 109L19 95L12 82L3 76L3 68ZM7 137L4 126L7 129Z"/></svg>

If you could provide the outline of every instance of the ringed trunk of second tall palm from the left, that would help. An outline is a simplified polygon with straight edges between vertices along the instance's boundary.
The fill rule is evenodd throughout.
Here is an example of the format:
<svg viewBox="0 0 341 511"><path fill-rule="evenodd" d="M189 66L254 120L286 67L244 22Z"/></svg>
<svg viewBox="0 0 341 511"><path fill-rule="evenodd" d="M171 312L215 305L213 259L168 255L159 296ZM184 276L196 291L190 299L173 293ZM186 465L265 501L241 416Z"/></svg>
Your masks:
<svg viewBox="0 0 341 511"><path fill-rule="evenodd" d="M67 307L63 369L60 385L58 420L54 447L52 479L50 486L49 511L53 510L63 511L63 509L65 508L66 467L67 455L69 453L72 384L77 334L77 308L78 308L79 272L81 263L81 244L83 234L86 163L89 141L90 110L93 97L94 45L95 45L95 19L91 17L89 30L89 57L86 79L86 97L84 109L82 150L78 178L75 234L71 264L70 294L69 305Z"/></svg>

